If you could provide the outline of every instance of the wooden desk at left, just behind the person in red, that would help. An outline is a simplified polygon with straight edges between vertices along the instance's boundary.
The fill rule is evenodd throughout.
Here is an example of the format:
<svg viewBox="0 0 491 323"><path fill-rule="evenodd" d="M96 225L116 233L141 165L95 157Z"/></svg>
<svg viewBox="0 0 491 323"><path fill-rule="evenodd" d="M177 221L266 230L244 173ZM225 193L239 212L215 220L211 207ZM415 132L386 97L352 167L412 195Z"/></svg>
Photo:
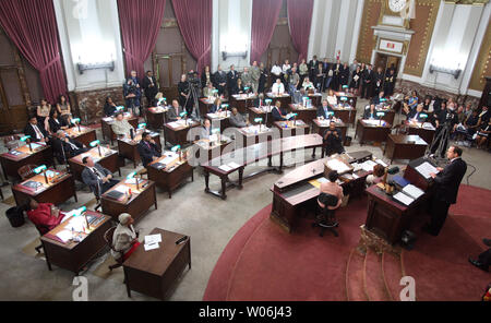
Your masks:
<svg viewBox="0 0 491 323"><path fill-rule="evenodd" d="M52 203L55 205L60 205L71 198L74 198L75 202L79 201L73 176L55 169L49 169L49 171L55 171L58 175L56 182L51 181L46 184L45 176L40 174L12 187L12 194L17 206L24 205L29 199L34 199L39 203ZM38 190L29 189L24 186L28 181L38 182L43 186Z"/></svg>

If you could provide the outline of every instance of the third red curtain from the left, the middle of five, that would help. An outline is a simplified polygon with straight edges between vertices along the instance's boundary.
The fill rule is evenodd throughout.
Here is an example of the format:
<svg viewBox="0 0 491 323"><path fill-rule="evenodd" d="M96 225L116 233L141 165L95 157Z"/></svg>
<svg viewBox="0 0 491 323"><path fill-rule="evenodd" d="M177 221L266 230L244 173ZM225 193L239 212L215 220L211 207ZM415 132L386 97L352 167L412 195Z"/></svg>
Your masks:
<svg viewBox="0 0 491 323"><path fill-rule="evenodd" d="M179 29L200 74L212 62L212 0L172 0Z"/></svg>

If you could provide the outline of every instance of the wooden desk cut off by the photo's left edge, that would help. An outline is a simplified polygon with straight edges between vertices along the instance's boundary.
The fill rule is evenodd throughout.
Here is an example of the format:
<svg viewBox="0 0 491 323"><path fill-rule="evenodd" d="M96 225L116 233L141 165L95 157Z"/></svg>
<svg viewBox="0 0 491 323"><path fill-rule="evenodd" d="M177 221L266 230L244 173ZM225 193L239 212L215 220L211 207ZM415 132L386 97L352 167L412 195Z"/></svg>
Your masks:
<svg viewBox="0 0 491 323"><path fill-rule="evenodd" d="M33 143L34 146L39 145L39 143ZM20 155L12 155L12 152L19 152ZM21 179L17 170L26 165L46 165L50 166L52 164L52 149L51 146L46 144L41 144L40 147L34 149L34 152L29 151L29 146L25 145L19 147L9 153L4 153L0 155L0 163L2 164L3 176L5 179L9 177L14 178L16 180Z"/></svg>

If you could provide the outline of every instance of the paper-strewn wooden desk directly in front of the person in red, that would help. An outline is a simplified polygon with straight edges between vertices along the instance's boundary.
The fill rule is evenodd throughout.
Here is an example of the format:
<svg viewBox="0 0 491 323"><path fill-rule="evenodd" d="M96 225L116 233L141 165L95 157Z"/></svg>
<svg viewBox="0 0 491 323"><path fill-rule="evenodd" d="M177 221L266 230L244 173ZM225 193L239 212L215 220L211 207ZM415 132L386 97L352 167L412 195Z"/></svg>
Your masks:
<svg viewBox="0 0 491 323"><path fill-rule="evenodd" d="M50 271L51 265L56 265L79 276L82 268L106 248L104 234L111 227L111 218L93 211L87 211L86 214L99 217L101 220L95 226L89 226L92 231L88 235L81 234L84 237L82 241L68 241L64 243L57 237L57 234L60 231L71 231L70 218L40 238Z"/></svg>

